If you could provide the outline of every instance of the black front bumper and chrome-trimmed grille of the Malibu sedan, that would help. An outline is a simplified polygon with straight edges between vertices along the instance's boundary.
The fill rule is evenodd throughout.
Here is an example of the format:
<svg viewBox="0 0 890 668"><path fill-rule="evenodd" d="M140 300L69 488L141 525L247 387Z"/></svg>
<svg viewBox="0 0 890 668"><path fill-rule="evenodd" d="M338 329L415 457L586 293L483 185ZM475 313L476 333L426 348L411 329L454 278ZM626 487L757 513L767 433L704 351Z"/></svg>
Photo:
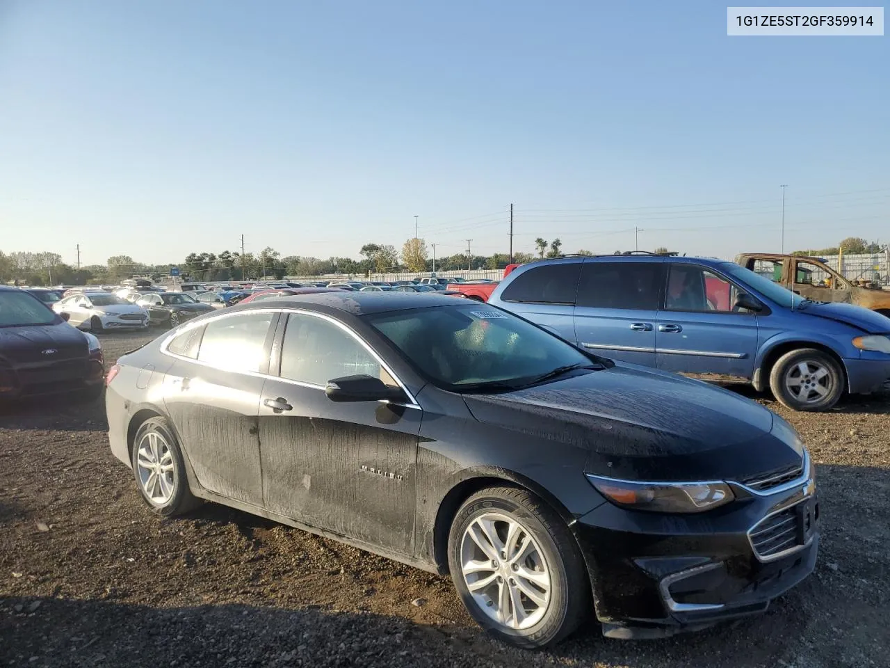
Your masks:
<svg viewBox="0 0 890 668"><path fill-rule="evenodd" d="M572 529L603 632L663 637L764 612L813 572L819 546L814 490L812 479L779 493L740 488L736 501L700 515L604 503L580 517Z"/></svg>

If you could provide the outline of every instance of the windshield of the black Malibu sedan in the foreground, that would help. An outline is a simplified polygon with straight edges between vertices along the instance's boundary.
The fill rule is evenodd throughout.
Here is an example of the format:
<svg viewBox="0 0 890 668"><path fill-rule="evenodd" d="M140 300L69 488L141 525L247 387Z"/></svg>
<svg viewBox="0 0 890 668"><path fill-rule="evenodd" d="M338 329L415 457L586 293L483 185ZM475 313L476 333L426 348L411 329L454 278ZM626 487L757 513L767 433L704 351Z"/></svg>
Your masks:
<svg viewBox="0 0 890 668"><path fill-rule="evenodd" d="M509 391L569 368L602 364L513 314L483 305L365 316L417 371L455 392ZM603 361L604 363L604 361Z"/></svg>

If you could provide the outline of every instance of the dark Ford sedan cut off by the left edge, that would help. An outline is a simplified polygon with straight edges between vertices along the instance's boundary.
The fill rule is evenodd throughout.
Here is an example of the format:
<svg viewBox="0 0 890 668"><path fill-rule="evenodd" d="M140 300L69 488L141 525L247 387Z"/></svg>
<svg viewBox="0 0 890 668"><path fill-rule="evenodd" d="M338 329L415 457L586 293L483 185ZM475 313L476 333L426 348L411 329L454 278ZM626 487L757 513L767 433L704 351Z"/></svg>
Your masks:
<svg viewBox="0 0 890 668"><path fill-rule="evenodd" d="M0 402L32 395L101 395L99 339L76 330L28 291L0 286Z"/></svg>

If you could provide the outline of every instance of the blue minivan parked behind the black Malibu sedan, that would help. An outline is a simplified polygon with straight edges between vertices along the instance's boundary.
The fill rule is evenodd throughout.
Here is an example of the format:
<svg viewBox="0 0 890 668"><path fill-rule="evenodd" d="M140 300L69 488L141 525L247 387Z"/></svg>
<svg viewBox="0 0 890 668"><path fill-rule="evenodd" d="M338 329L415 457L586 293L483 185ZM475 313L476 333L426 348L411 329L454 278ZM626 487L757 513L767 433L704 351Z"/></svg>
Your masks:
<svg viewBox="0 0 890 668"><path fill-rule="evenodd" d="M890 385L890 318L805 299L725 260L533 262L510 273L489 303L604 357L748 379L797 411Z"/></svg>

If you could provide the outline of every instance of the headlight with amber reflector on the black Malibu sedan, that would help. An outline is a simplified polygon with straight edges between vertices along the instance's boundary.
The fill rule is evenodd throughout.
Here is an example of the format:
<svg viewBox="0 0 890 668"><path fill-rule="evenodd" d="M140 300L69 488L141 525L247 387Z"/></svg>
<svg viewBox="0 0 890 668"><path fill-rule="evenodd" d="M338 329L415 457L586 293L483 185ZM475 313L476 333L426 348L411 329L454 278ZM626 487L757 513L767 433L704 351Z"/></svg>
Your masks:
<svg viewBox="0 0 890 668"><path fill-rule="evenodd" d="M590 474L587 480L618 506L658 513L700 513L735 498L729 485L720 482L635 483Z"/></svg>

